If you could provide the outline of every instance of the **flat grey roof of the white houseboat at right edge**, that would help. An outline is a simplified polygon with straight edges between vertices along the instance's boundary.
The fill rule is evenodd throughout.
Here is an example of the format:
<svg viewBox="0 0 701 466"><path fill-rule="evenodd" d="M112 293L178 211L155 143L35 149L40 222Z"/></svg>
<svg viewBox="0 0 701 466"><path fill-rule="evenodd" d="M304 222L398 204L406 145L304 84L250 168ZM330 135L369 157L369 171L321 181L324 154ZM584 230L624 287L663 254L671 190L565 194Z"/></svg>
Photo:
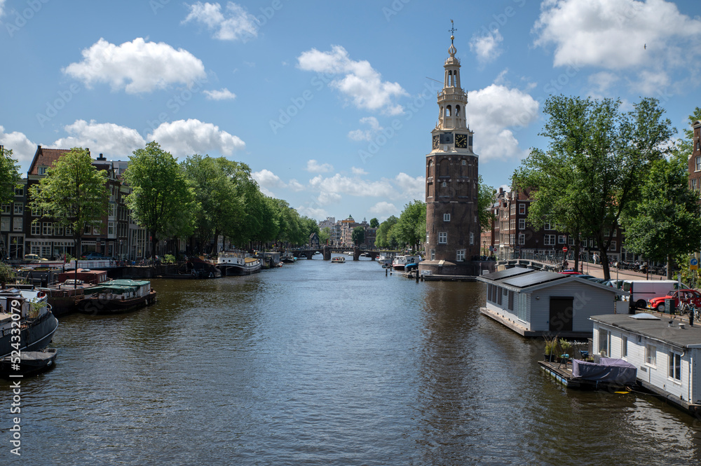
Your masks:
<svg viewBox="0 0 701 466"><path fill-rule="evenodd" d="M651 314L592 315L590 319L594 322L601 322L602 324L611 325L611 327L618 327L634 334L653 338L677 348L701 348L701 327L689 327L686 322L683 322L685 325L684 328L681 328L678 320L670 320L667 317L653 319L637 317L641 315ZM672 327L669 327L670 321L672 322Z"/></svg>

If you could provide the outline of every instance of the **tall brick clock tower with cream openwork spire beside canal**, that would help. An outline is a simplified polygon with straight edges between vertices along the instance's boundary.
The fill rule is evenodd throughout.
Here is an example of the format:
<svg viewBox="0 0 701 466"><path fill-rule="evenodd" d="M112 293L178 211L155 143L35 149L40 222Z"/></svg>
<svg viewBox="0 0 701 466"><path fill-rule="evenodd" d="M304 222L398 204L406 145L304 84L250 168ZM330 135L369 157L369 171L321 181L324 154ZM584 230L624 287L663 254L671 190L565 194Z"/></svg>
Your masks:
<svg viewBox="0 0 701 466"><path fill-rule="evenodd" d="M451 29L451 33L455 29ZM460 85L460 60L450 36L443 88L438 92L438 123L431 132L433 150L426 156L426 261L420 270L433 275L479 275L477 154Z"/></svg>

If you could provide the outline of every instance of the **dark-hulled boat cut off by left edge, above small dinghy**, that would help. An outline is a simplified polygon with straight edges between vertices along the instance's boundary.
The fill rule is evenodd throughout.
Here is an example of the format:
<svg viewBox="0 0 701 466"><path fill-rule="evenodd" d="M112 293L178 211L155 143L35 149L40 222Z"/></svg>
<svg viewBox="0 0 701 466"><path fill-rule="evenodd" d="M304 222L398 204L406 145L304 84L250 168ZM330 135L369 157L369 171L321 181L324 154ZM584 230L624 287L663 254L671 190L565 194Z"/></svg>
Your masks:
<svg viewBox="0 0 701 466"><path fill-rule="evenodd" d="M0 357L13 350L34 351L46 348L58 328L46 293L39 289L10 287L0 290ZM13 317L19 315L20 317ZM13 329L20 329L20 346L13 346Z"/></svg>

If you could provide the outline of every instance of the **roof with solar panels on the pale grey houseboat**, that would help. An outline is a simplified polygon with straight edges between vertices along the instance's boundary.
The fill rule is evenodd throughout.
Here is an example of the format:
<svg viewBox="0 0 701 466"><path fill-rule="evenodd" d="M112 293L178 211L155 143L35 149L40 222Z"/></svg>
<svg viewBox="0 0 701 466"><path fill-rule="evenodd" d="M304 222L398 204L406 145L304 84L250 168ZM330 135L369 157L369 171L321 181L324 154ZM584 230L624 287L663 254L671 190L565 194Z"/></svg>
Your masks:
<svg viewBox="0 0 701 466"><path fill-rule="evenodd" d="M547 270L534 270L533 268L523 267L507 268L505 270L499 270L498 272L487 273L486 275L477 277L477 280L484 283L499 285L515 292L532 292L536 289L547 288L552 285L578 282L614 294L629 294L620 289L587 280L579 275L564 275L562 273L548 272Z"/></svg>

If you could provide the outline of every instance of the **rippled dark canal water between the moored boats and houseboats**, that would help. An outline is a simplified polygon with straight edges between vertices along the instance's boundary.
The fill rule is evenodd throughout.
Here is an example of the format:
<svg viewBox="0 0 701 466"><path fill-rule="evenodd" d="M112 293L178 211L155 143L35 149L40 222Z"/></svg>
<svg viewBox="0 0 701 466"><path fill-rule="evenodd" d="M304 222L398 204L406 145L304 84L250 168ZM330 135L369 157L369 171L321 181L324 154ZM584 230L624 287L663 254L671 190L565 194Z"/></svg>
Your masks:
<svg viewBox="0 0 701 466"><path fill-rule="evenodd" d="M701 422L649 395L566 390L543 341L479 314L484 285L301 259L154 280L158 303L61 319L0 382L0 462L21 465L698 465Z"/></svg>

